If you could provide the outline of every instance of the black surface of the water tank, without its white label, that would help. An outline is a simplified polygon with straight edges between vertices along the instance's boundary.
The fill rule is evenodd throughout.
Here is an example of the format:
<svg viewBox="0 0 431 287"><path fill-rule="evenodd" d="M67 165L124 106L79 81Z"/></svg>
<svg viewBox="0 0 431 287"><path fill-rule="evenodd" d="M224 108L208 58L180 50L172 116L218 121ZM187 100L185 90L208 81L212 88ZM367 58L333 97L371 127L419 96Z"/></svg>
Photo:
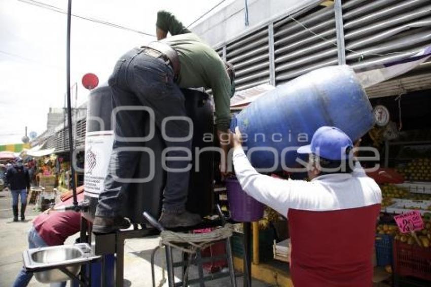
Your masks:
<svg viewBox="0 0 431 287"><path fill-rule="evenodd" d="M190 171L187 209L191 212L199 213L201 216L206 216L213 209L214 153L202 152L196 160L195 148L203 149L214 145L213 141L204 140L210 137L208 135L212 136L214 134L212 104L208 100L209 97L206 93L191 89L183 89L182 92L186 98L187 114L194 123L193 162ZM87 110L87 132L111 130L111 97L111 88L106 84L101 85L90 93ZM101 129L100 122L94 120L96 117L102 119L104 128ZM149 121L145 122L146 124L142 128L145 130L144 134L148 134ZM205 137L204 134L206 134ZM132 223L143 223L143 211L147 211L158 218L162 207L166 172L162 168L160 158L165 144L157 127L155 136L145 142L145 147L150 148L155 154L154 178L148 183L131 184L126 190L123 213ZM199 171L195 169L196 164L199 164ZM85 166L87 167L87 164ZM150 173L149 168L148 154L141 153L134 178L147 177ZM97 198L90 197L88 193L86 193L85 198L90 201L91 208L84 216L92 221Z"/></svg>

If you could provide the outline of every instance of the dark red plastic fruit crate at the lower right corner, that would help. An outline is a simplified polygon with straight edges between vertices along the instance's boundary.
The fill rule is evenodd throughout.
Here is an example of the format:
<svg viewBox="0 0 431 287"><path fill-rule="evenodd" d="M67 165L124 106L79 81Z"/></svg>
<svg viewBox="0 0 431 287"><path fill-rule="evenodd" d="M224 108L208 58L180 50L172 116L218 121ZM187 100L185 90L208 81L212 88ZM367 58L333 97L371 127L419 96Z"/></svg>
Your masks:
<svg viewBox="0 0 431 287"><path fill-rule="evenodd" d="M431 280L431 248L393 241L394 273Z"/></svg>

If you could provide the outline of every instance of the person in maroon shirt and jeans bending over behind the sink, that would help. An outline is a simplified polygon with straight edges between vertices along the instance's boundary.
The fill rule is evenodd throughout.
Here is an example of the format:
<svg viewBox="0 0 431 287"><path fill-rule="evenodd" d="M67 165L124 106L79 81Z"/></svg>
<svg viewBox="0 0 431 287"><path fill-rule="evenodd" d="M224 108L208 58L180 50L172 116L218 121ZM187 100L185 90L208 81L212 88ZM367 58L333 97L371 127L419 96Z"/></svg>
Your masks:
<svg viewBox="0 0 431 287"><path fill-rule="evenodd" d="M84 200L84 193L78 194L78 201ZM73 204L73 198L65 200L61 205ZM57 205L58 206L58 205ZM70 235L81 229L81 212L46 210L34 220L28 232L28 248L62 245ZM24 267L18 273L13 287L25 287L33 277ZM64 287L66 282L51 283L51 287Z"/></svg>

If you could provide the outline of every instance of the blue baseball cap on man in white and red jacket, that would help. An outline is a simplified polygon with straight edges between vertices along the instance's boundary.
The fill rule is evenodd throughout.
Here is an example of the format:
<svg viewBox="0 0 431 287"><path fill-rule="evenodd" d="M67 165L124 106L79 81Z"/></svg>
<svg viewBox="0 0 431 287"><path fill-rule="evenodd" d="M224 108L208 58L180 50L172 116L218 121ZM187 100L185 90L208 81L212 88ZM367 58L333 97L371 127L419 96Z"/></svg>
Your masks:
<svg viewBox="0 0 431 287"><path fill-rule="evenodd" d="M300 147L298 153L315 154L326 159L342 160L351 157L349 151L352 148L352 140L339 128L320 127L314 132L311 145Z"/></svg>

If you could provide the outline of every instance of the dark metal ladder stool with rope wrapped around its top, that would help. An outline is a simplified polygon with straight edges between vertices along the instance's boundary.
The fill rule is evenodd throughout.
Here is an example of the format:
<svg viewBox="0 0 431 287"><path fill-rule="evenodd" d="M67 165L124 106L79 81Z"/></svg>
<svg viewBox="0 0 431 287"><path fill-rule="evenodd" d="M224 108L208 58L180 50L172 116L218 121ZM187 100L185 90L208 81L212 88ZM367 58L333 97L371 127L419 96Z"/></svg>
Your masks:
<svg viewBox="0 0 431 287"><path fill-rule="evenodd" d="M218 211L219 211L219 215L220 215L221 220L222 220L222 224L225 225L225 223L226 223L225 218L224 218L223 213L221 212L219 206L218 206ZM161 226L159 224L159 222L157 222L147 212L143 212L143 216L145 217L145 219L148 222L150 222L151 225L153 225L159 231L165 230L165 228L163 228L163 226ZM173 262L173 248L174 247L172 247L170 245L165 245L166 270L167 270L167 274L168 274L168 286L169 287L187 286L187 284L199 283L200 287L204 287L205 281L210 281L210 280L219 279L219 278L229 276L230 281L231 281L231 286L236 287L236 280L235 280L236 275L235 275L235 269L234 269L234 265L233 265L232 246L231 246L230 239L231 239L230 237L227 237L225 239L215 241L215 242L221 242L221 241L225 242L226 254L224 254L224 255L202 258L202 255L201 255L202 250L198 248L196 250L196 253L195 253L196 256L194 259L189 258L189 255L186 252L183 252L183 254L182 254L183 260L179 261L179 262ZM151 254L151 276L152 276L153 287L156 286L155 285L155 276L154 276L154 256L155 256L157 250L159 250L159 249L160 249L160 246L157 246ZM214 273L211 275L204 276L202 264L205 262L211 262L211 261L220 260L220 259L226 259L227 260L229 272L217 272L217 273ZM188 273L188 266L190 264L196 264L198 266L198 272L199 272L198 278L191 279L191 280L188 279L187 273ZM174 269L176 267L182 267L182 277L181 277L182 280L181 280L181 282L175 283Z"/></svg>

